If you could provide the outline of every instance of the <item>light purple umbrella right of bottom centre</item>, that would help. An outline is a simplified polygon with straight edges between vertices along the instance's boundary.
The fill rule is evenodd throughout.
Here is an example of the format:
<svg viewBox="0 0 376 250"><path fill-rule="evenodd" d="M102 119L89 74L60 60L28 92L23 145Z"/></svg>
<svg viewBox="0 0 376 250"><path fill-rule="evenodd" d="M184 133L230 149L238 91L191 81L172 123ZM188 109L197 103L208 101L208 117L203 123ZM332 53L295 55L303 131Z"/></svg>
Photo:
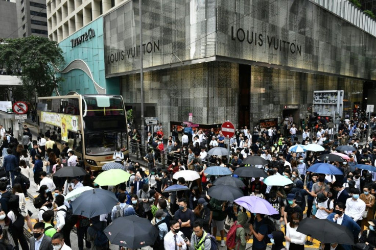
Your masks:
<svg viewBox="0 0 376 250"><path fill-rule="evenodd" d="M267 215L278 214L278 211L276 211L266 199L257 196L243 196L233 202L246 208L252 213Z"/></svg>

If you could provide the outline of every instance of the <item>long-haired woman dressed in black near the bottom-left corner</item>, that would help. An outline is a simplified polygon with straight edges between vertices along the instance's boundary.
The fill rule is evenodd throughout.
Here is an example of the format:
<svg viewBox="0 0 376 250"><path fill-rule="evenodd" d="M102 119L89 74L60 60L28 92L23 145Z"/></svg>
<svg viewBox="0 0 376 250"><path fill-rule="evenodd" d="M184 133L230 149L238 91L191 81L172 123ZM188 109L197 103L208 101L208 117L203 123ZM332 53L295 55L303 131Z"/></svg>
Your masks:
<svg viewBox="0 0 376 250"><path fill-rule="evenodd" d="M19 197L18 195L13 196L9 199L8 204L8 217L12 221L10 226L14 243L16 245L16 249L18 248L18 241L21 245L22 250L29 250L29 244L26 240L25 234L23 233L23 225L25 224L25 218L23 218L21 214L21 210L19 209Z"/></svg>

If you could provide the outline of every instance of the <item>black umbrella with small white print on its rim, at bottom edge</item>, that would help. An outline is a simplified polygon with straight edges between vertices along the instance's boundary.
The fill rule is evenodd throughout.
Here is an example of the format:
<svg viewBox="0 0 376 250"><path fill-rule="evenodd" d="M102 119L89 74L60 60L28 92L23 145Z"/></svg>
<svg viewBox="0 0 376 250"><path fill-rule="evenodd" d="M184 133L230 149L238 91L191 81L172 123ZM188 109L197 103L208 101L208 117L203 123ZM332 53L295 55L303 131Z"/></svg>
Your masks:
<svg viewBox="0 0 376 250"><path fill-rule="evenodd" d="M103 232L111 244L131 249L152 245L159 236L158 229L148 219L135 215L114 219Z"/></svg>

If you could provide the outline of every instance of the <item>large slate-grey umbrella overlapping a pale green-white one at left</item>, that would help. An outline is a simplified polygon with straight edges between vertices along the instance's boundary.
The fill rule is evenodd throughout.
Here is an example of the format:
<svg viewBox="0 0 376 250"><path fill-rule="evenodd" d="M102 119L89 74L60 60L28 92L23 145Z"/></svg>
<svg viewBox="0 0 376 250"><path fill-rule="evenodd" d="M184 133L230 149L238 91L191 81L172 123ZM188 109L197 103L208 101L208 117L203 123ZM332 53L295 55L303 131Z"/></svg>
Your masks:
<svg viewBox="0 0 376 250"><path fill-rule="evenodd" d="M115 194L111 191L99 188L88 190L72 202L73 214L87 218L107 214L117 202Z"/></svg>

